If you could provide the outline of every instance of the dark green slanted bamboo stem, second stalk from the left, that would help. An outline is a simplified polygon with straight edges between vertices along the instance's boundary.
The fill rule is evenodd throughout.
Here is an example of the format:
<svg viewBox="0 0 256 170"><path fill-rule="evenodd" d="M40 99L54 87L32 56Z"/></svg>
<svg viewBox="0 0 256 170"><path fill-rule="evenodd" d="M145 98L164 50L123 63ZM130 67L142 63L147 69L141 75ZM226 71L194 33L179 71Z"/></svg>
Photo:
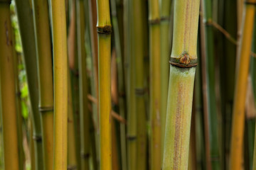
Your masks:
<svg viewBox="0 0 256 170"><path fill-rule="evenodd" d="M38 110L38 69L36 64L36 43L33 26L33 13L31 13L31 1L24 0L15 2L28 81L28 94L29 98L31 99L31 120L33 125L33 140L35 147L35 166L36 169L39 170L43 168L43 143L41 137L41 121Z"/></svg>

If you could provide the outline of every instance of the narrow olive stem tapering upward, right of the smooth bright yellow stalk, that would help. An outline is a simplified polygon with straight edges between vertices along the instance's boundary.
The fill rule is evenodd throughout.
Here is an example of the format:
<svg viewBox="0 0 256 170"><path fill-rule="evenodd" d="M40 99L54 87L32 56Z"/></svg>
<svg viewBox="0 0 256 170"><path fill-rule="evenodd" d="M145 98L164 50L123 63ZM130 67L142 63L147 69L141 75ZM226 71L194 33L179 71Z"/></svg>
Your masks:
<svg viewBox="0 0 256 170"><path fill-rule="evenodd" d="M70 72L68 72L68 169L78 168L75 140L75 123L73 116L71 80Z"/></svg>

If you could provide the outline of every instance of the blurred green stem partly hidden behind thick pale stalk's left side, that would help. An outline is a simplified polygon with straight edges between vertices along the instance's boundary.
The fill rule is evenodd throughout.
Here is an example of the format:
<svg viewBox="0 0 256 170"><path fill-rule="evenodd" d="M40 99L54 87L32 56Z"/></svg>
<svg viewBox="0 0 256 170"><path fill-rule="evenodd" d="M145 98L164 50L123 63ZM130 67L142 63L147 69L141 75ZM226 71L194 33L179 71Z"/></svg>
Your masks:
<svg viewBox="0 0 256 170"><path fill-rule="evenodd" d="M169 40L171 0L161 0L161 162L164 156L164 132L166 121L167 94L169 81L169 57L171 43Z"/></svg>

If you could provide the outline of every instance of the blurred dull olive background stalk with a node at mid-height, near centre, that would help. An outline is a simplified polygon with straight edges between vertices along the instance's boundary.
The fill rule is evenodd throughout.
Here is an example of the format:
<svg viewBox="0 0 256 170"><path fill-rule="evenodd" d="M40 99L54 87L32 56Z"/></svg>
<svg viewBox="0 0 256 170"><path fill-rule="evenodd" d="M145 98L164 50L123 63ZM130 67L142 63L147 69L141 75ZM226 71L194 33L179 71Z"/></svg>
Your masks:
<svg viewBox="0 0 256 170"><path fill-rule="evenodd" d="M136 169L146 169L146 108L144 102L143 0L132 1L132 49L134 52L135 114L137 115Z"/></svg>

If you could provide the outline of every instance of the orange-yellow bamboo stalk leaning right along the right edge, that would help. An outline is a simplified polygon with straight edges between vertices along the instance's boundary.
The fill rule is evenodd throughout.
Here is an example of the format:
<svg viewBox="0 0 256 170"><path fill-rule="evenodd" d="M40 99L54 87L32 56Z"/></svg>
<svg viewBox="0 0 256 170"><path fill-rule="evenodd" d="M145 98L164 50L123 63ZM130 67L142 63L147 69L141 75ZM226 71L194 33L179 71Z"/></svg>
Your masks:
<svg viewBox="0 0 256 170"><path fill-rule="evenodd" d="M235 81L235 97L231 132L230 169L242 169L243 135L245 128L245 96L249 71L250 50L252 45L252 29L255 17L255 0L246 1L245 15L240 42L239 62Z"/></svg>

